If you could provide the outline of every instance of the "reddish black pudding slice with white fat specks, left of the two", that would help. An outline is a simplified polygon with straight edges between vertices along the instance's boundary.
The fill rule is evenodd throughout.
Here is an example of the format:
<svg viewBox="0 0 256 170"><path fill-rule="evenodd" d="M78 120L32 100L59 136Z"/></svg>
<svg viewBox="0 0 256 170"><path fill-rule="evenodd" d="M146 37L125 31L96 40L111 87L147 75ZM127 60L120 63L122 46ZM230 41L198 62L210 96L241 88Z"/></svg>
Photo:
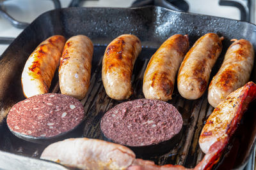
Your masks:
<svg viewBox="0 0 256 170"><path fill-rule="evenodd" d="M63 94L40 94L15 104L7 116L10 130L33 137L52 137L76 127L83 105Z"/></svg>

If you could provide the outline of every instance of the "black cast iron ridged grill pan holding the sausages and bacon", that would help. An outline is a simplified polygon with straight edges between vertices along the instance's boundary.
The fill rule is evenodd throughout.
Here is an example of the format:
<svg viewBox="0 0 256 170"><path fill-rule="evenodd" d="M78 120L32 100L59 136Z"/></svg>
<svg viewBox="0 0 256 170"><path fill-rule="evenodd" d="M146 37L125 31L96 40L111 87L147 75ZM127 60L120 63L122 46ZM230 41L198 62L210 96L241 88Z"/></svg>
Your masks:
<svg viewBox="0 0 256 170"><path fill-rule="evenodd" d="M110 108L122 102L106 96L102 85L101 62L108 43L120 34L134 34L141 40L142 52L136 60L132 74L134 94L129 99L132 100L144 98L142 93L143 74L148 60L161 43L173 34L188 34L189 43L192 46L196 39L207 32L215 32L219 36L225 37L223 51L212 70L211 78L221 66L225 52L231 44L230 39L248 39L256 50L256 26L253 24L227 18L182 13L161 7L148 6L131 9L64 8L40 15L13 41L0 58L0 120L2 122L0 127L0 165L10 163L12 167L30 166L32 169L36 163L31 164L25 161L23 165L17 164L17 160L21 159L15 155L39 158L47 146L46 144L29 143L13 136L8 130L4 118L13 104L25 99L20 83L22 69L30 53L44 39L54 34L61 34L66 38L84 34L92 39L94 53L91 84L88 94L81 100L86 118L81 127L67 138L102 139L100 118ZM253 69L251 80L255 81L255 69ZM54 76L50 92L60 92L58 73ZM161 165L180 164L185 167L195 167L204 156L198 146L200 131L213 110L212 106L207 103L207 92L200 99L189 101L179 95L176 83L173 99L169 103L173 104L182 114L184 120L182 137L179 145L168 153L150 157L150 159ZM232 142L228 145L223 159L221 159L221 163L214 169L221 169L221 166L225 169L242 169L246 164L254 146L256 134L256 127L253 123L256 121L253 105L255 106L255 103L251 104L250 110L245 114L235 137L232 138ZM12 155L11 159L3 159L3 162L1 157L4 157L6 152L15 154ZM31 162L35 160L37 159L31 159ZM234 164L230 164L230 161ZM39 162L44 164L45 161L40 160Z"/></svg>

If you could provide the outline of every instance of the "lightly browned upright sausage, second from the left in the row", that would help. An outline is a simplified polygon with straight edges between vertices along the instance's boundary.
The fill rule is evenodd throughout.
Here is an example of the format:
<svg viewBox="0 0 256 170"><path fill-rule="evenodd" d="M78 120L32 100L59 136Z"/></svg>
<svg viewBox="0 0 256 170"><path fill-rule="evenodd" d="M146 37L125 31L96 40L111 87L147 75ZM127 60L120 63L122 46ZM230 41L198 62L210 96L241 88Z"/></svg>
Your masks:
<svg viewBox="0 0 256 170"><path fill-rule="evenodd" d="M83 99L90 86L93 43L87 36L68 39L60 59L61 94Z"/></svg>

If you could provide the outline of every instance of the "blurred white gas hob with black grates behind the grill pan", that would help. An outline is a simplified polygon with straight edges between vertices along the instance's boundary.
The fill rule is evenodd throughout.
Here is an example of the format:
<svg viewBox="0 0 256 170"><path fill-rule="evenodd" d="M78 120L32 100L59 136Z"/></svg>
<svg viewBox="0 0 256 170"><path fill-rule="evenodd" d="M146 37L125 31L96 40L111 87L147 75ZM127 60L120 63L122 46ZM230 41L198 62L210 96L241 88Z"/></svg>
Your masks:
<svg viewBox="0 0 256 170"><path fill-rule="evenodd" d="M0 55L26 25L45 11L70 6L130 8L147 5L255 23L255 0L0 0Z"/></svg>

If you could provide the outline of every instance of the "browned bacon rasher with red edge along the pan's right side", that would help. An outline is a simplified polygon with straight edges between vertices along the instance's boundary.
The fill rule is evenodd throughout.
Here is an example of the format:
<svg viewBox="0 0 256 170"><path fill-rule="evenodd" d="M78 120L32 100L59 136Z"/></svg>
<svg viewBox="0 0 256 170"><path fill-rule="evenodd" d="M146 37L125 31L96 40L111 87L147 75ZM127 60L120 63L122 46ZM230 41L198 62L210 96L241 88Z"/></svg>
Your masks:
<svg viewBox="0 0 256 170"><path fill-rule="evenodd" d="M211 169L218 162L248 104L255 98L256 84L250 81L228 95L225 101L215 108L199 138L200 147L206 154L195 169Z"/></svg>

